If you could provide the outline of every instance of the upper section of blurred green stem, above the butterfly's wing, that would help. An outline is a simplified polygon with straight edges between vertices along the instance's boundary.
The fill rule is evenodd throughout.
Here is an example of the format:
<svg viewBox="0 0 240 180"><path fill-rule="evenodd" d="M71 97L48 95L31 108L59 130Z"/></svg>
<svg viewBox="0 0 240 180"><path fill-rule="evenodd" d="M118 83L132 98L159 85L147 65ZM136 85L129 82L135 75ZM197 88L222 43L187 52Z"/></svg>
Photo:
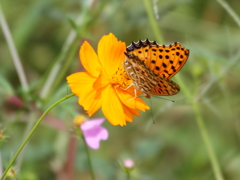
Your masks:
<svg viewBox="0 0 240 180"><path fill-rule="evenodd" d="M146 12L150 21L150 25L152 26L153 33L156 37L156 41L158 43L164 43L164 39L161 33L161 29L158 28L157 20L153 14L153 8L151 7L151 2L149 0L143 0L144 6L146 8Z"/></svg>

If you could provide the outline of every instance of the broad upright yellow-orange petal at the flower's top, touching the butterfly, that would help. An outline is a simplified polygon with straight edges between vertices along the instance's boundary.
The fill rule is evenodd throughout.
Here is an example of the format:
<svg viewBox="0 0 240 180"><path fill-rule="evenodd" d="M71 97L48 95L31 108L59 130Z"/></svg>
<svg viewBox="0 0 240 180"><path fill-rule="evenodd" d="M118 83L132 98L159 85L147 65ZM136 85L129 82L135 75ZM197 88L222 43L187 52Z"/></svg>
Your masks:
<svg viewBox="0 0 240 180"><path fill-rule="evenodd" d="M125 60L124 52L126 44L118 41L117 38L110 33L105 35L98 43L98 57L100 64L104 68L109 78L117 71Z"/></svg>

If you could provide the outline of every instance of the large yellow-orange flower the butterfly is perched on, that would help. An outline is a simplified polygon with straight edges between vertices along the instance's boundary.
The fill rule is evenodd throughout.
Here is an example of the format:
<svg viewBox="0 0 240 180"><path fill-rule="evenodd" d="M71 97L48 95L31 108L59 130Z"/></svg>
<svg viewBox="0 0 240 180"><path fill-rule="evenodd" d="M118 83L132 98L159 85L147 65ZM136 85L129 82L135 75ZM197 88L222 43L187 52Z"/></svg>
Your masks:
<svg viewBox="0 0 240 180"><path fill-rule="evenodd" d="M110 33L98 43L98 55L85 41L79 56L87 72L74 73L67 77L71 91L79 97L79 104L92 116L102 107L102 112L113 125L126 125L132 122L138 110L149 107L135 97L132 80L123 69L126 45Z"/></svg>

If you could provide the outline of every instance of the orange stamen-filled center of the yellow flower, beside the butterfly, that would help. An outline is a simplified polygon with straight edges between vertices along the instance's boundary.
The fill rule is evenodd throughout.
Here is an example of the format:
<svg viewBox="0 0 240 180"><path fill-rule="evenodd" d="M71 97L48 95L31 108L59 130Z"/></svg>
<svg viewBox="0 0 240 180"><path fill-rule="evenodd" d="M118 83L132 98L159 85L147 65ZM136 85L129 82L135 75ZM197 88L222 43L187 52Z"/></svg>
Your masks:
<svg viewBox="0 0 240 180"><path fill-rule="evenodd" d="M119 67L115 74L110 80L110 84L119 87L126 88L132 83L132 80L129 78L127 73L124 71L123 67Z"/></svg>

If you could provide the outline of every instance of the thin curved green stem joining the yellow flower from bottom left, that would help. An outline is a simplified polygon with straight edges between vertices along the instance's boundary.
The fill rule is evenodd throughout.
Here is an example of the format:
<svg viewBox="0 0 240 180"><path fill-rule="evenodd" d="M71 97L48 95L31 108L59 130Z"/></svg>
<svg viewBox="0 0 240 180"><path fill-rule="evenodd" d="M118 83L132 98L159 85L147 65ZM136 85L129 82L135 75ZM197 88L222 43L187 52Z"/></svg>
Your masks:
<svg viewBox="0 0 240 180"><path fill-rule="evenodd" d="M28 142L28 140L30 139L30 137L32 136L32 134L34 133L34 131L36 130L36 128L38 127L38 125L41 123L41 121L43 120L43 118L46 116L46 114L56 105L58 105L59 103L61 103L62 101L65 101L66 99L70 98L74 96L74 94L70 94L65 96L64 98L58 100L57 102L55 102L53 105L51 105L44 113L43 115L39 118L39 120L36 122L36 124L34 125L34 127L32 128L32 130L30 131L30 133L28 134L28 136L26 137L26 139L24 140L24 142L22 143L22 145L20 146L20 148L18 149L18 151L16 152L16 154L13 156L12 160L10 161L8 167L6 168L6 170L4 171L1 180L3 180L5 178L5 176L7 175L8 170L11 168L13 162L15 161L15 159L18 157L19 153L22 151L23 147L26 145L26 143Z"/></svg>

